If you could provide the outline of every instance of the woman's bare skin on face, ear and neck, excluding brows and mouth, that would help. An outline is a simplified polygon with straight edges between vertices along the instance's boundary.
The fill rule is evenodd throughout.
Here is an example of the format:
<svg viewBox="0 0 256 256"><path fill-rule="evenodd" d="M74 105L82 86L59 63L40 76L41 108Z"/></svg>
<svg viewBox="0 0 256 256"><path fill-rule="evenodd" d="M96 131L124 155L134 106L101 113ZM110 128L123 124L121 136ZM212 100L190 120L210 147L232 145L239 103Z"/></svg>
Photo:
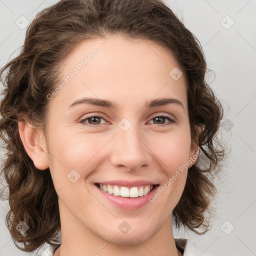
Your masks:
<svg viewBox="0 0 256 256"><path fill-rule="evenodd" d="M197 146L192 146L190 138L185 77L174 80L169 75L179 65L163 47L112 35L107 40L82 42L63 63L63 79L94 48L99 50L95 57L49 100L47 140L42 131L19 122L26 152L41 171L49 167L59 196L60 256L177 256L171 218L187 169L159 198L136 210L106 201L94 182L147 179L161 186L196 154ZM68 108L85 96L107 99L119 107L84 103ZM184 108L177 104L144 107L147 101L162 97L176 98ZM89 115L102 118L87 119L86 125L79 122ZM175 122L163 118L158 124L155 117L161 115ZM118 126L123 118L131 124L127 131ZM194 157L189 167L195 161ZM80 175L74 183L67 178L72 169ZM123 221L131 227L125 234L118 228Z"/></svg>

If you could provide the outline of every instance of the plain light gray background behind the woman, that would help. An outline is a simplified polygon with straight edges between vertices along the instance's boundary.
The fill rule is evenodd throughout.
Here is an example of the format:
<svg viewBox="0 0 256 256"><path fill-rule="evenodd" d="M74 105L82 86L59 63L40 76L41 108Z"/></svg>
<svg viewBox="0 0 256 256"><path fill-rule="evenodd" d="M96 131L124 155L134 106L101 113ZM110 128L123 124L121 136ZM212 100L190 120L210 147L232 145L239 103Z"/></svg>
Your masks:
<svg viewBox="0 0 256 256"><path fill-rule="evenodd" d="M55 2L0 0L0 66L22 45L26 29L20 28L20 16L31 21L39 10ZM217 217L212 220L211 230L200 236L174 230L174 237L190 238L212 255L256 255L256 1L165 2L203 46L208 68L216 75L214 78L213 72L209 72L208 82L225 109L220 133L231 148L221 182L217 184ZM2 149L0 152L2 155ZM0 256L28 255L11 240L4 224L7 209L7 201L0 201ZM43 248L46 247L44 244Z"/></svg>

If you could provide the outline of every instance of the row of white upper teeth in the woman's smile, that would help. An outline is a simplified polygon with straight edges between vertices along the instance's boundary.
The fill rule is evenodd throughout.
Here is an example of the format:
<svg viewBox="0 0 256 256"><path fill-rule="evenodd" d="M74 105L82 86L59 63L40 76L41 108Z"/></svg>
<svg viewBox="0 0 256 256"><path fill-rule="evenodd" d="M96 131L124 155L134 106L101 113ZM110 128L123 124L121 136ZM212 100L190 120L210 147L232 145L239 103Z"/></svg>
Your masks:
<svg viewBox="0 0 256 256"><path fill-rule="evenodd" d="M104 192L109 194L113 194L115 196L122 196L122 197L138 197L147 195L153 188L153 185L146 185L146 186L133 186L133 187L126 187L126 186L118 186L118 185L109 185L109 184L99 184L99 188Z"/></svg>

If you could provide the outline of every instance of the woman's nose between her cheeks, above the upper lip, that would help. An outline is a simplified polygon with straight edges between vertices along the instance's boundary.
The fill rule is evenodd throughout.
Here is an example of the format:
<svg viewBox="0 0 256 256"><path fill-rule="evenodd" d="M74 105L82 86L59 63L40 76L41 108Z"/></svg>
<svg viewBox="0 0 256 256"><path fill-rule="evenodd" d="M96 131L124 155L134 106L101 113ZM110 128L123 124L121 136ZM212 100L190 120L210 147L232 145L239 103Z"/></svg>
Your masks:
<svg viewBox="0 0 256 256"><path fill-rule="evenodd" d="M116 168L135 171L150 165L151 150L147 147L148 138L139 132L135 125L126 131L117 130L111 143L111 163Z"/></svg>

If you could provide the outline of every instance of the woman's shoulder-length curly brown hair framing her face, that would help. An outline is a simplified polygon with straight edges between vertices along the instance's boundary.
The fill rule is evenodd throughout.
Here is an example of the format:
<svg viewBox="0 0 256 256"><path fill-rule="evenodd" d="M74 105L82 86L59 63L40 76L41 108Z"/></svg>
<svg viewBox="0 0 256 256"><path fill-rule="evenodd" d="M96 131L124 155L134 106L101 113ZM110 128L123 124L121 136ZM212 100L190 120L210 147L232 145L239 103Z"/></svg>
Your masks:
<svg viewBox="0 0 256 256"><path fill-rule="evenodd" d="M28 119L45 132L46 95L60 80L61 63L79 43L109 34L155 42L172 52L182 68L187 80L191 141L199 145L200 154L188 169L173 219L177 228L182 225L197 234L209 228L205 213L210 212L216 193L210 176L220 171L225 155L216 136L223 108L205 80L206 61L198 39L161 0L60 0L35 16L19 55L0 70L5 87L0 136L6 148L1 174L10 206L6 225L15 245L23 251L34 251L45 242L59 242L60 217L49 168L40 171L34 166L21 142L17 122ZM199 136L197 126L201 128ZM29 226L25 234L15 228L20 221Z"/></svg>

